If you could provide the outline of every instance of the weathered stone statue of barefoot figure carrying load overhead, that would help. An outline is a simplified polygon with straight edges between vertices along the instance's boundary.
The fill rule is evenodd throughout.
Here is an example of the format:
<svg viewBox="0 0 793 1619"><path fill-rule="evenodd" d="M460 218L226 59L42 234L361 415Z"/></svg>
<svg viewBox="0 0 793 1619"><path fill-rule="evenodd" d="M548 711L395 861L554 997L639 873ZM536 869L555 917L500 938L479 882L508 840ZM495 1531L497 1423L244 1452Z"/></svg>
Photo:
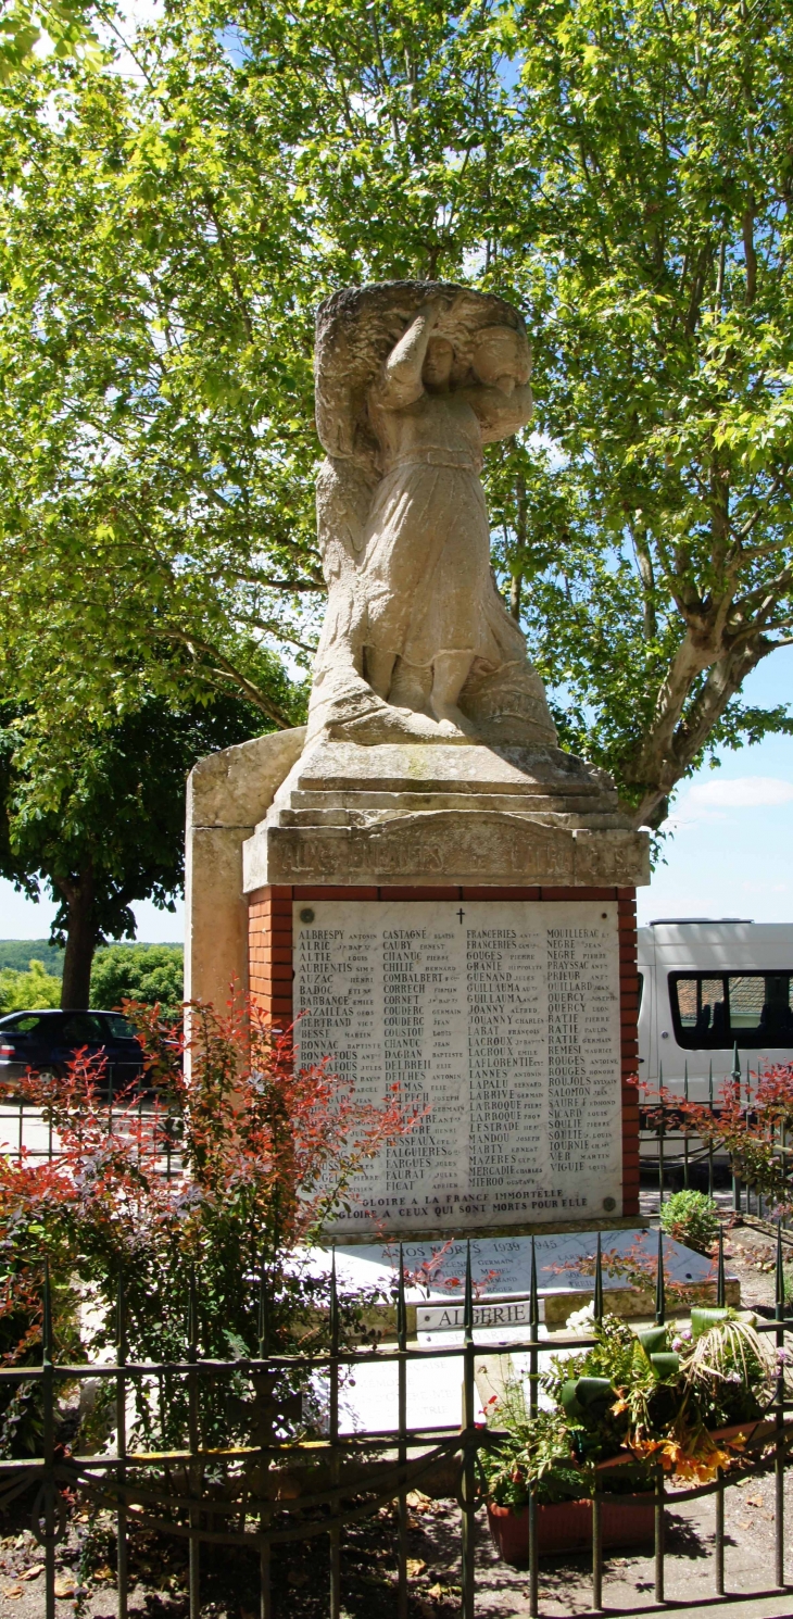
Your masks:
<svg viewBox="0 0 793 1619"><path fill-rule="evenodd" d="M482 447L531 416L511 304L429 282L346 288L317 316L317 529L329 606L309 738L553 746L490 570Z"/></svg>

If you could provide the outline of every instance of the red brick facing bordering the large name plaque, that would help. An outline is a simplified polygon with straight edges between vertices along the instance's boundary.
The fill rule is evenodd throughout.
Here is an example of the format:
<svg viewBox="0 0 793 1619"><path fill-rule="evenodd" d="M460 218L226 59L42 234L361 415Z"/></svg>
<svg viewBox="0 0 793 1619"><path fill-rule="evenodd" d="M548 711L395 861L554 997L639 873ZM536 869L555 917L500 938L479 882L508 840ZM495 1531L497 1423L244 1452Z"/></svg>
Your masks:
<svg viewBox="0 0 793 1619"><path fill-rule="evenodd" d="M623 1075L623 1214L639 1213L639 1106L625 1080L638 1073L639 979L634 889L487 887L264 887L248 900L251 996L278 1028L291 1023L293 900L617 900L620 931L620 1030Z"/></svg>

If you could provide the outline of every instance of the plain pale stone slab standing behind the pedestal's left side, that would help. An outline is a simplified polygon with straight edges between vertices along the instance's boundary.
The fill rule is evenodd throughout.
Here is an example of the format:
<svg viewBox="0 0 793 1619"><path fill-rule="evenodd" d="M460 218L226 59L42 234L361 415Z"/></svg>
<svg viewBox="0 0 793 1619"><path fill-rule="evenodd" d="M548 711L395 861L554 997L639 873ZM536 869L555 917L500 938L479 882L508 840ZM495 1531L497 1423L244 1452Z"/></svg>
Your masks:
<svg viewBox="0 0 793 1619"><path fill-rule="evenodd" d="M184 997L222 1007L248 988L243 842L265 814L306 740L272 732L199 759L188 777Z"/></svg>

